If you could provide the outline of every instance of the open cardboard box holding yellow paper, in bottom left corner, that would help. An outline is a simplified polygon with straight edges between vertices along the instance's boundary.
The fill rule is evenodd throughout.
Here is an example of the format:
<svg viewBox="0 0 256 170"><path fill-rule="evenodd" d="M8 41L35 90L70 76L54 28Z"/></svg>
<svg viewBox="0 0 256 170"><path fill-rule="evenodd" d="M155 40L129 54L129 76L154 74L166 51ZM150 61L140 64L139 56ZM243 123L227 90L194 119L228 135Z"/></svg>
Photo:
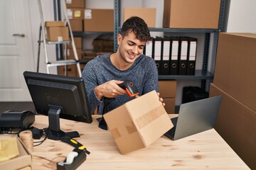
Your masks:
<svg viewBox="0 0 256 170"><path fill-rule="evenodd" d="M1 138L8 139L10 137L5 136ZM23 143L18 137L17 137L17 144L18 144L18 152L20 153L20 155L18 157L10 159L9 161L0 162L0 169L13 170L13 169L22 169L27 166L31 166L32 164L31 154L28 152L26 147L24 147Z"/></svg>

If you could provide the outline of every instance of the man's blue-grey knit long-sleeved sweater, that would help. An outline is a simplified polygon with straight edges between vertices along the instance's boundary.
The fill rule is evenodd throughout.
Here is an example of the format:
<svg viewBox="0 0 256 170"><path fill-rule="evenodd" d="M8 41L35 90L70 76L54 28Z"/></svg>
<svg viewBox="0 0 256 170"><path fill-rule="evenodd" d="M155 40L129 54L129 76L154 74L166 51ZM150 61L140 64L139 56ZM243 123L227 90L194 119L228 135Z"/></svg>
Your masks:
<svg viewBox="0 0 256 170"><path fill-rule="evenodd" d="M112 62L110 62L110 54L99 55L85 65L85 69L82 71L82 79L85 81L85 89L89 99L91 113L100 105L98 114L102 114L104 106L104 103L99 101L95 96L95 87L112 79L121 81L124 79L131 80L137 87L139 96L153 90L159 91L156 63L151 57L146 57L145 55L141 55L141 57L132 64L132 67L129 67L129 69L125 71L120 71L114 67ZM117 96L115 101L110 103L108 109L111 111L133 98L129 97L127 94Z"/></svg>

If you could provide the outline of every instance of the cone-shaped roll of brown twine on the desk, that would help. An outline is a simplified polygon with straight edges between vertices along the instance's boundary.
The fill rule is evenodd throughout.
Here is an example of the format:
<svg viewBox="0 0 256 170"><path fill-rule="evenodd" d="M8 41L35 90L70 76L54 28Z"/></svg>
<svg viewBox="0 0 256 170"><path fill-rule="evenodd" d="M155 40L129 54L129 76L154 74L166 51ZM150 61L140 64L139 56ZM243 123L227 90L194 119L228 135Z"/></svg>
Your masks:
<svg viewBox="0 0 256 170"><path fill-rule="evenodd" d="M33 152L33 134L31 130L24 130L20 132L19 137L23 144L26 146L26 149L28 149L29 153Z"/></svg>

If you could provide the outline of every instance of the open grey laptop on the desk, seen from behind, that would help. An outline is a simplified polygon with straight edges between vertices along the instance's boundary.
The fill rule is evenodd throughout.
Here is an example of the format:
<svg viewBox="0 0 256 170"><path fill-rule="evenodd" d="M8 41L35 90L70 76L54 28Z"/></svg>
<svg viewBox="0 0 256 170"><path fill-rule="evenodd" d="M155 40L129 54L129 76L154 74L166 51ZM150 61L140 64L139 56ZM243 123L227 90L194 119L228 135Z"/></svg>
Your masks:
<svg viewBox="0 0 256 170"><path fill-rule="evenodd" d="M174 128L164 135L178 140L214 127L222 96L181 104L178 117L171 118Z"/></svg>

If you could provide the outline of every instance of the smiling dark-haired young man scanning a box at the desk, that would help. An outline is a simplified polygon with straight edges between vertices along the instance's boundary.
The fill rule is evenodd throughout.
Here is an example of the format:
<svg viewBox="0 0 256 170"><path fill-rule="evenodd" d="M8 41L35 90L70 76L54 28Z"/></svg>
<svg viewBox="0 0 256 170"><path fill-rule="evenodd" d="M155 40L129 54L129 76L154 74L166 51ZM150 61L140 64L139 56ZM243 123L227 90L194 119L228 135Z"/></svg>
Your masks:
<svg viewBox="0 0 256 170"><path fill-rule="evenodd" d="M82 78L91 113L100 105L98 114L102 114L104 97L115 98L109 105L109 111L133 99L118 86L124 79L134 83L139 96L153 90L159 91L156 63L151 57L142 54L149 38L149 28L144 20L131 17L124 22L117 35L117 52L97 56L86 64ZM163 102L162 98L159 100Z"/></svg>

